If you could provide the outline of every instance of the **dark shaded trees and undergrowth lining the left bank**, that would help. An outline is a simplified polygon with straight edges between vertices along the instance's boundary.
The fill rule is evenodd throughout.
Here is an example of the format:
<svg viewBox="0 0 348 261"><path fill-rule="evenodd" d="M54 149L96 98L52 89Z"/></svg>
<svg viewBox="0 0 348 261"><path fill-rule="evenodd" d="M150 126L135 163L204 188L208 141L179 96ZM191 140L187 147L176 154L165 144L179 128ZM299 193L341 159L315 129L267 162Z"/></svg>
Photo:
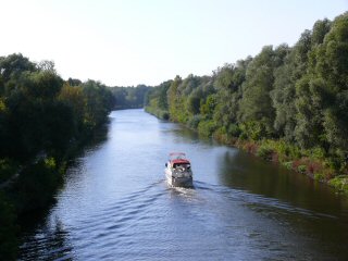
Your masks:
<svg viewBox="0 0 348 261"><path fill-rule="evenodd" d="M16 216L45 208L70 151L107 122L111 91L62 79L50 61L0 57L0 259L15 259Z"/></svg>

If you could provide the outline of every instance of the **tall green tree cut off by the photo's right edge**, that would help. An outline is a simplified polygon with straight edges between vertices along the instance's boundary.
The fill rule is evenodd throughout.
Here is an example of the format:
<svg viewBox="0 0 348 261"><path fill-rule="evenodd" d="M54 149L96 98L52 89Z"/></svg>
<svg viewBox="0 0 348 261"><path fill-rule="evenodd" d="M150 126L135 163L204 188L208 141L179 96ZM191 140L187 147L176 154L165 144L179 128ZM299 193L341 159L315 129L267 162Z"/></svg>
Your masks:
<svg viewBox="0 0 348 261"><path fill-rule="evenodd" d="M311 75L315 78L315 83L319 83L313 85L312 95L322 102L325 139L333 149L338 148L346 151L345 153L348 151L347 32L348 12L335 18L331 30L323 38L323 44L313 50L310 64Z"/></svg>

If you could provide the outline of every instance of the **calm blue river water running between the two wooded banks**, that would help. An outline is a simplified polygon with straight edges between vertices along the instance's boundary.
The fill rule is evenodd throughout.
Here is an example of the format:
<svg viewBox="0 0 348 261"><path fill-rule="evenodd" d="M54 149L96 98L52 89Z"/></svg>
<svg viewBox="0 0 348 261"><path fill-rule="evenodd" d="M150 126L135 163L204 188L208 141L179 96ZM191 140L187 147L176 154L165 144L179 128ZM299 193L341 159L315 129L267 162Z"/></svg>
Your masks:
<svg viewBox="0 0 348 261"><path fill-rule="evenodd" d="M187 153L194 188L166 185L171 151ZM115 111L22 240L20 260L348 260L348 201L142 110Z"/></svg>

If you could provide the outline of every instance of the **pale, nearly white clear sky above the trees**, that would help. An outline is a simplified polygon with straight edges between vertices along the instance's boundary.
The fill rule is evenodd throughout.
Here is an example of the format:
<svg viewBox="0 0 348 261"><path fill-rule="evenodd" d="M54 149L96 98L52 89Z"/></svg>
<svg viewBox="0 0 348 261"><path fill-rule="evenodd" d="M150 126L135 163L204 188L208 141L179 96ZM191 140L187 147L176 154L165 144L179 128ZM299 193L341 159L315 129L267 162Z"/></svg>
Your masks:
<svg viewBox="0 0 348 261"><path fill-rule="evenodd" d="M348 0L0 0L0 57L53 61L65 79L156 86L293 46Z"/></svg>

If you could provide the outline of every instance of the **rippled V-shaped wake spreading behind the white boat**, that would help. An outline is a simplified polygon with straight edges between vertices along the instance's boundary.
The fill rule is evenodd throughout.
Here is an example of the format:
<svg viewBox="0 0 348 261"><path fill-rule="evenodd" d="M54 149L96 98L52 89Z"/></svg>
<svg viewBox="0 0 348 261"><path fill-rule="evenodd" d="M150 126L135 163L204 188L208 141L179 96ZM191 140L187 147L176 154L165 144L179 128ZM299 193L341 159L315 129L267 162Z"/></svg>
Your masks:
<svg viewBox="0 0 348 261"><path fill-rule="evenodd" d="M254 212L261 215L256 217ZM37 233L29 244L22 246L30 249L23 260L35 260L38 256L62 260L113 260L115 257L136 260L146 259L147 254L151 260L153 257L160 260L159 249L165 249L170 254L165 257L167 260L184 258L183 253L187 260L217 256L245 260L243 251L247 250L248 258L291 259L289 251L294 246L276 239L285 229L266 219L273 212L318 215L220 185L195 182L195 188L172 188L161 181L80 216L69 227L69 233L62 227ZM59 241L60 237L63 241ZM200 249L200 253L196 249ZM228 251L222 254L223 249Z"/></svg>

